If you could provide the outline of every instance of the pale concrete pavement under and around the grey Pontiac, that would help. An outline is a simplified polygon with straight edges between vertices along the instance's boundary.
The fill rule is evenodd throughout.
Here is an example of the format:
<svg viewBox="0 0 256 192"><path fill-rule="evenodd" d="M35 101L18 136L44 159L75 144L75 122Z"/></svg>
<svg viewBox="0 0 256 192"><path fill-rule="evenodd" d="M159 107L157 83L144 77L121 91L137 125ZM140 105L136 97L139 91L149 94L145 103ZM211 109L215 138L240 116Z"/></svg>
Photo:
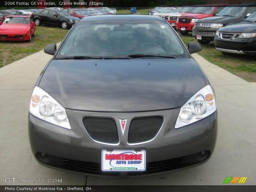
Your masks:
<svg viewBox="0 0 256 192"><path fill-rule="evenodd" d="M256 182L256 84L219 68L197 54L216 95L218 140L205 164L169 174L136 179L86 177L39 165L30 151L27 131L31 90L51 56L43 51L0 69L0 185L4 178L62 179L62 185L220 185L227 176ZM14 183L19 184L19 183ZM25 183L22 183L25 184ZM50 184L50 183L36 183Z"/></svg>

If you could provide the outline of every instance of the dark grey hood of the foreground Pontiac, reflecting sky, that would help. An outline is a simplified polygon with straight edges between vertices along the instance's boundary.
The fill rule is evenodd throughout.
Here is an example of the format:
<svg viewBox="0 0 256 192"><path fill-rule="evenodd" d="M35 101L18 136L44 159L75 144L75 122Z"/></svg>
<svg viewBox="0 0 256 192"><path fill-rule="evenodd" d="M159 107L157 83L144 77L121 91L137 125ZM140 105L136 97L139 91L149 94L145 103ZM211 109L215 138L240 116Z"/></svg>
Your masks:
<svg viewBox="0 0 256 192"><path fill-rule="evenodd" d="M65 108L131 112L179 108L205 85L193 59L52 60L39 86Z"/></svg>

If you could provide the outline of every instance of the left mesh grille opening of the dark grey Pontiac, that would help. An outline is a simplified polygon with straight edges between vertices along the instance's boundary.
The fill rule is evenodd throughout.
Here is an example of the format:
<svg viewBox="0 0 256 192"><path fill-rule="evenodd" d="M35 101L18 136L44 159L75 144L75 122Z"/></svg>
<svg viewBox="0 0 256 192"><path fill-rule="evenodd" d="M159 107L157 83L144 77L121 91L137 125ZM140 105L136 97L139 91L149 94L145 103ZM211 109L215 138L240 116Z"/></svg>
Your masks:
<svg viewBox="0 0 256 192"><path fill-rule="evenodd" d="M119 142L116 121L108 117L84 117L84 128L89 136L97 141L108 144Z"/></svg>

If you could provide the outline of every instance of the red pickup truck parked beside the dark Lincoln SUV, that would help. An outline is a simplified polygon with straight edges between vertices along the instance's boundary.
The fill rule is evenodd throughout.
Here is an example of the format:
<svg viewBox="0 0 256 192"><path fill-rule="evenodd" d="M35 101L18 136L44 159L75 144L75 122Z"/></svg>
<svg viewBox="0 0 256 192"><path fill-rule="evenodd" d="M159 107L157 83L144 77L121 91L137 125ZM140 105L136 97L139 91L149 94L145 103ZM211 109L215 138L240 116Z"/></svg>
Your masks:
<svg viewBox="0 0 256 192"><path fill-rule="evenodd" d="M178 17L176 22L176 29L183 35L187 35L188 32L192 32L192 28L197 20L213 17L219 13L228 4L211 4L197 7L190 14L186 14Z"/></svg>

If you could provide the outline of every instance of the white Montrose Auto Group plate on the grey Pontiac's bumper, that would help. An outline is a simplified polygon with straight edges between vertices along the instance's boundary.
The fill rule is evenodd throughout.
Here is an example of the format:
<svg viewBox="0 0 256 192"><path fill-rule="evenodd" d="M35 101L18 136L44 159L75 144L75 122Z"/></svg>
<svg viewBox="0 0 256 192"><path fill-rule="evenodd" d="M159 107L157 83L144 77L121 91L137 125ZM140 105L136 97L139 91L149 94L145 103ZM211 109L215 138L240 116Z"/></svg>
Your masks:
<svg viewBox="0 0 256 192"><path fill-rule="evenodd" d="M146 151L140 150L102 150L102 171L145 171Z"/></svg>

